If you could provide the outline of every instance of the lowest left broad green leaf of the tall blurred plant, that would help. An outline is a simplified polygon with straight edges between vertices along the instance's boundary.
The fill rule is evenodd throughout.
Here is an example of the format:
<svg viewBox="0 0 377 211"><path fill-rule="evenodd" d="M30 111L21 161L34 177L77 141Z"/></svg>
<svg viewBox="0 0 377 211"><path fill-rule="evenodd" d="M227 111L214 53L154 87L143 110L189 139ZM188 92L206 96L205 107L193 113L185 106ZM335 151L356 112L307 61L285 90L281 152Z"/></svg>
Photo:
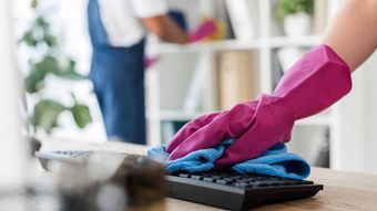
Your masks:
<svg viewBox="0 0 377 211"><path fill-rule="evenodd" d="M34 106L31 124L50 134L58 126L59 115L67 107L57 101L41 99Z"/></svg>

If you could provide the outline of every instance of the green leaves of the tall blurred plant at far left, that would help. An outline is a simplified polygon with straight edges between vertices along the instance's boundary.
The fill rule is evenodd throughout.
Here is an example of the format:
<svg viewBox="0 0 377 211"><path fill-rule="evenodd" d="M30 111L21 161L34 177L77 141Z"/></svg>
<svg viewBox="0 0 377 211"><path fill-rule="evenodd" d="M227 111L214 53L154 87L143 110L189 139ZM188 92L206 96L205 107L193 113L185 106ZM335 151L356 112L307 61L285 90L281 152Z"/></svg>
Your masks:
<svg viewBox="0 0 377 211"><path fill-rule="evenodd" d="M31 7L35 11L38 4L38 0L31 0ZM30 50L38 51L40 45L45 49L41 61L30 62L30 73L24 78L26 91L28 93L33 94L40 92L40 89L44 87L44 80L48 74L74 81L88 78L85 75L77 72L73 60L60 55L58 39L51 33L50 23L42 14L37 14L32 27L24 32L21 41L30 46ZM33 114L29 119L30 124L32 124L35 129L42 128L50 134L52 129L58 126L60 114L69 110L72 113L78 127L84 128L92 122L89 107L79 104L73 94L72 97L73 106L70 108L57 101L40 99L37 105L34 105Z"/></svg>

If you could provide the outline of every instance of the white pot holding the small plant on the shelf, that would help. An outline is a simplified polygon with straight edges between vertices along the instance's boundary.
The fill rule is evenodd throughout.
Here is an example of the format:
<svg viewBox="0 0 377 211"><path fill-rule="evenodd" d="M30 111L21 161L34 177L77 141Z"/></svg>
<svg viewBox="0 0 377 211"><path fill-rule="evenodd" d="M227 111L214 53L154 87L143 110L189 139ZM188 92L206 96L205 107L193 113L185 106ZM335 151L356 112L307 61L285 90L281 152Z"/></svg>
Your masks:
<svg viewBox="0 0 377 211"><path fill-rule="evenodd" d="M303 36L312 32L312 17L305 12L289 14L284 19L284 32L287 36Z"/></svg>

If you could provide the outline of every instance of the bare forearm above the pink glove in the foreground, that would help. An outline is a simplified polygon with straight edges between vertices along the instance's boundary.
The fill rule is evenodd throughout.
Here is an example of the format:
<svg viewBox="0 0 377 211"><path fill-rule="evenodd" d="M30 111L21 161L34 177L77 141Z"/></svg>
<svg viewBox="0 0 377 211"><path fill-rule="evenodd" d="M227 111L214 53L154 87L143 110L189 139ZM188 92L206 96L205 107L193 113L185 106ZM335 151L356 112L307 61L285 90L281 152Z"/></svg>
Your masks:
<svg viewBox="0 0 377 211"><path fill-rule="evenodd" d="M323 43L355 71L377 48L377 0L347 0Z"/></svg>

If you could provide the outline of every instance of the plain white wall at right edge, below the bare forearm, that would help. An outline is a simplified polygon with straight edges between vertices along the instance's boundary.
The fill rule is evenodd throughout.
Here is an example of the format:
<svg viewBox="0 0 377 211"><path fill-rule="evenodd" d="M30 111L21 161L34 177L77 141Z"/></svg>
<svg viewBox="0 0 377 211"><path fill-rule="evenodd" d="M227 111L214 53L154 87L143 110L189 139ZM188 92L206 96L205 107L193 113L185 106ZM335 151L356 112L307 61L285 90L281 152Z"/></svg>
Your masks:
<svg viewBox="0 0 377 211"><path fill-rule="evenodd" d="M377 53L353 75L353 91L339 102L336 169L377 173Z"/></svg>

